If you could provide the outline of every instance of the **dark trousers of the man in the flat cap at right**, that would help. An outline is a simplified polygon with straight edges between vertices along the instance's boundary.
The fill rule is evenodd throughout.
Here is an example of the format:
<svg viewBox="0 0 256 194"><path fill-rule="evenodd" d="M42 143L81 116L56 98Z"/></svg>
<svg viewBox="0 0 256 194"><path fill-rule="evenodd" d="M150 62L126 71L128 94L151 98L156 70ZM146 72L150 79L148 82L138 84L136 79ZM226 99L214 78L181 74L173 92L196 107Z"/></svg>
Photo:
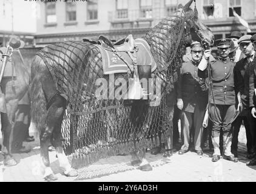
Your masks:
<svg viewBox="0 0 256 194"><path fill-rule="evenodd" d="M238 116L232 124L233 139L231 150L234 153L237 152L238 134L242 122L244 123L244 127L246 130L247 151L249 154L251 154L254 151L252 146L252 131L255 130L255 121L252 119L252 115L249 109L244 109L243 112L241 112L241 116Z"/></svg>

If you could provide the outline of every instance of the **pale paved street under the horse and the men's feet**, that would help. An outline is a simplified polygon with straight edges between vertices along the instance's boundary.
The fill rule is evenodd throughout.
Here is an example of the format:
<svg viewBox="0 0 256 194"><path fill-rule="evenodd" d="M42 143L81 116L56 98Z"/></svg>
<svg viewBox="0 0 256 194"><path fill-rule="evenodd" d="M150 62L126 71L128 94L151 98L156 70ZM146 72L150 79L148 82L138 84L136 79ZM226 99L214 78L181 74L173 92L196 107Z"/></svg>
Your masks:
<svg viewBox="0 0 256 194"><path fill-rule="evenodd" d="M33 129L30 128L30 135ZM211 154L204 150L204 156L198 156L194 152L184 155L175 153L169 159L162 155L146 154L147 159L153 166L150 172L142 172L130 166L130 156L112 156L101 159L89 167L79 169L77 178L67 178L62 175L58 168L59 162L55 158L55 152L50 152L50 166L58 177L58 181L256 181L256 166L246 166L246 138L243 128L239 136L239 162L234 163L220 159L218 162L211 161ZM19 161L17 166L4 167L3 157L0 158L2 172L0 181L43 181L39 168L39 139L35 142L25 143L30 146L30 153L14 154Z"/></svg>

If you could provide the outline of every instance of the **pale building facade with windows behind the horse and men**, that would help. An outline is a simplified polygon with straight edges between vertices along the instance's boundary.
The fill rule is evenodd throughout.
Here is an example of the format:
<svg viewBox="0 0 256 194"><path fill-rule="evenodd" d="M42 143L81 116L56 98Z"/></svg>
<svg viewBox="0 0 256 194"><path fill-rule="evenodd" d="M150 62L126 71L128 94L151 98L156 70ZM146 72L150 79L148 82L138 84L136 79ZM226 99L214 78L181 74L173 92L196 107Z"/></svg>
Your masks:
<svg viewBox="0 0 256 194"><path fill-rule="evenodd" d="M161 19L172 15L188 0L67 0L38 2L35 42L42 46L67 40L82 41L106 35L120 39L143 36ZM192 4L194 7L194 4ZM192 7L192 8L193 8ZM248 33L234 12L256 32L256 0L197 0L199 18L211 28L215 39L234 30Z"/></svg>

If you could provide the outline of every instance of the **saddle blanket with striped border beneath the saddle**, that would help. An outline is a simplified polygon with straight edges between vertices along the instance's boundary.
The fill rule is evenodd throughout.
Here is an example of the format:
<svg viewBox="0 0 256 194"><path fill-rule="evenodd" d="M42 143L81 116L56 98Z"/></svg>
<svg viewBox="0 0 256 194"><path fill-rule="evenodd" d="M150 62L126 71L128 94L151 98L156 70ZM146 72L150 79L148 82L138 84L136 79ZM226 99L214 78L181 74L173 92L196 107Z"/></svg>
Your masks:
<svg viewBox="0 0 256 194"><path fill-rule="evenodd" d="M147 42L138 38L135 39L135 45L138 47L138 52L136 53L136 60L138 65L151 65L151 72L157 69L157 64L153 59L152 53L150 52L150 47ZM101 45L96 45L101 53L103 61L103 73L104 75L110 75L112 73L127 73L128 67L126 63L119 58L115 53L110 50L106 50ZM127 52L118 52L130 65L132 65L132 59Z"/></svg>

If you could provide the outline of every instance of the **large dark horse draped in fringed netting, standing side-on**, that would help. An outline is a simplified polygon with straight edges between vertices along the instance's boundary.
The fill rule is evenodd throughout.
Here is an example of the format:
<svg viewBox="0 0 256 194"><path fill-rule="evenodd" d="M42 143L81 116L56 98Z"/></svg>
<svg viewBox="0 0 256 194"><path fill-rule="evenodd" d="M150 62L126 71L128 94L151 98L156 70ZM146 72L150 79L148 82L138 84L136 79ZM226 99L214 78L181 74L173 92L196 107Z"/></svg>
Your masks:
<svg viewBox="0 0 256 194"><path fill-rule="evenodd" d="M168 136L170 124L163 94L171 92L177 81L181 49L192 41L190 31L197 34L201 42L212 44L214 41L211 30L198 21L196 8L194 11L189 8L192 2L163 19L143 37L157 62L153 74L162 80L162 99L158 106L149 107L147 101L142 100L125 105L122 99L97 99L96 80L106 78L109 81L109 77L103 75L98 47L90 42L52 44L36 55L30 96L32 120L40 132L44 179L56 179L50 169L49 141L56 148L59 165L67 176L78 175L73 166L127 152L132 153L133 165L140 166L141 170L152 170L146 161L145 150L152 147L149 143L149 139L155 139L152 135L158 135L154 130L158 126L153 120L158 113L161 114L157 125L161 125L162 141ZM115 73L114 80L118 78L128 80L128 74ZM62 131L65 127L67 130ZM72 166L64 151L75 156Z"/></svg>

